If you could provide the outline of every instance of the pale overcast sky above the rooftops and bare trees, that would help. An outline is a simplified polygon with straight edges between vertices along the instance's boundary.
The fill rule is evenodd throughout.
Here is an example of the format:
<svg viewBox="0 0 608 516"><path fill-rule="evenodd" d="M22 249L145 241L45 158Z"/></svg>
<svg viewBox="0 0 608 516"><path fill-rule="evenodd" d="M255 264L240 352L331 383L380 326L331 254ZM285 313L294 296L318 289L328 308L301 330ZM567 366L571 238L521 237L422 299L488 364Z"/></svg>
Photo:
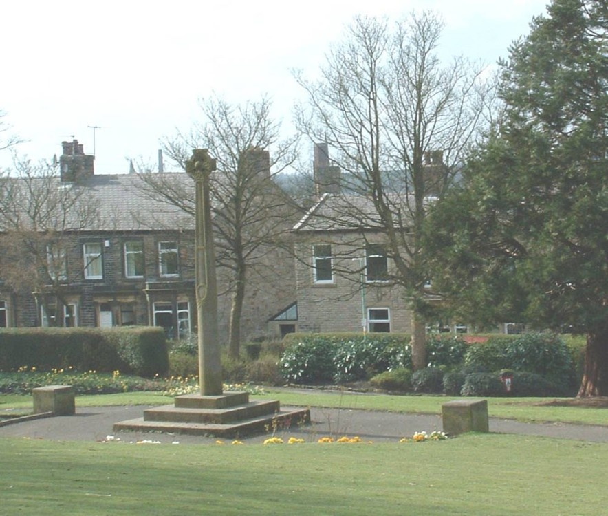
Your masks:
<svg viewBox="0 0 608 516"><path fill-rule="evenodd" d="M95 143L96 173L127 173L129 158L155 162L160 138L187 131L212 92L231 103L268 94L289 125L303 98L291 70L314 76L356 14L435 10L446 24L442 54L492 65L547 2L6 0L0 110L32 160L60 155L74 136L87 154Z"/></svg>

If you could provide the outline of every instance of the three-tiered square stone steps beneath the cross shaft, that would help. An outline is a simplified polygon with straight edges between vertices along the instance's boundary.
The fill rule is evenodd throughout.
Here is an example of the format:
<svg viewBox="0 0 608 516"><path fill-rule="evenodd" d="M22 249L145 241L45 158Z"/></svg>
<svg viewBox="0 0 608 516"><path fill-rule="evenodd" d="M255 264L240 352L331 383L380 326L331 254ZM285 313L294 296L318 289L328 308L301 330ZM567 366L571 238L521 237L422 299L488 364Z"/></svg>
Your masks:
<svg viewBox="0 0 608 516"><path fill-rule="evenodd" d="M186 394L175 405L144 410L142 418L115 423L114 431L158 431L238 438L310 422L308 409L282 410L278 400L249 401L246 392Z"/></svg>

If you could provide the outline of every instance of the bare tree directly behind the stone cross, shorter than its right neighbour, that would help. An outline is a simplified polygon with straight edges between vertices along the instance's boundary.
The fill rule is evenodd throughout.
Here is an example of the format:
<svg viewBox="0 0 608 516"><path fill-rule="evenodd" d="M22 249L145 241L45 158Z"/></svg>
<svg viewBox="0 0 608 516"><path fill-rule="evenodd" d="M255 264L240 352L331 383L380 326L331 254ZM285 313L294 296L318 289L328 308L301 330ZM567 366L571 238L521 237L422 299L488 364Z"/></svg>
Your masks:
<svg viewBox="0 0 608 516"><path fill-rule="evenodd" d="M272 120L272 103L266 97L232 105L213 96L201 100L200 107L202 120L187 133L165 138L163 147L182 169L193 149L208 149L217 160L217 171L210 180L216 259L218 268L230 272L228 340L230 355L236 357L248 279L254 273L268 273L268 268L258 264L269 246L279 244L290 228L288 212L293 214L293 207L272 177L296 160L297 138L280 140L281 126ZM145 173L141 177L147 195L194 213L190 186L175 182L171 174Z"/></svg>

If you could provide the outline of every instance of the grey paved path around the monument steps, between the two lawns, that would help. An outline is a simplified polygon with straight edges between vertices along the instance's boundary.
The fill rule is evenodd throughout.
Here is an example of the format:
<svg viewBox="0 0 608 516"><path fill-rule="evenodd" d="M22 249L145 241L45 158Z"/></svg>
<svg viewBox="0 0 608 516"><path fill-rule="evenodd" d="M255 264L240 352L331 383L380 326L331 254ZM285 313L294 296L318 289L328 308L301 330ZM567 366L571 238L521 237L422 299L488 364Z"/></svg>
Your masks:
<svg viewBox="0 0 608 516"><path fill-rule="evenodd" d="M8 424L0 427L1 437L23 437L59 441L140 442L213 444L215 438L185 436L168 433L114 432L115 422L139 418L147 406L133 407L76 407L74 416L57 416ZM358 436L365 441L397 442L411 437L414 432L442 430L441 416L404 414L351 409L311 409L312 424L277 433L282 438L296 437L306 441L333 436ZM517 433L528 436L574 439L587 442L608 442L608 427L564 424L522 423L515 420L490 418L490 432ZM243 442L263 442L269 436L242 438ZM225 439L229 441L230 439Z"/></svg>

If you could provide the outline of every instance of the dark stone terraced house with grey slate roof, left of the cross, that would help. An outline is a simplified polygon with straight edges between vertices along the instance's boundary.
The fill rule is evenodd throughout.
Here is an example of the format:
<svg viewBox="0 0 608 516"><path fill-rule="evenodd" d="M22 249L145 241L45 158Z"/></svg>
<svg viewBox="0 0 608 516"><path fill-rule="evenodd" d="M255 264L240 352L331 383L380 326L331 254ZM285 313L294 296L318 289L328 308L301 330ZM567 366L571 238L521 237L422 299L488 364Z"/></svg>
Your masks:
<svg viewBox="0 0 608 516"><path fill-rule="evenodd" d="M63 142L59 167L51 187L85 191L83 198L95 206L96 217L66 232L55 253L61 260L54 272L49 269L55 281L34 291L19 290L2 280L0 268L0 327L155 325L171 338L194 332L194 218L145 195L137 174L94 173L94 156L86 155L77 140ZM186 173L166 175L194 197L194 182ZM285 216L288 227L293 222ZM0 228L3 238L6 242ZM273 268L272 276L248 279L243 339L267 332L269 317L294 299L292 259L285 253L279 247L266 249L260 259ZM227 338L229 272L220 267L217 274L223 292L219 330Z"/></svg>

